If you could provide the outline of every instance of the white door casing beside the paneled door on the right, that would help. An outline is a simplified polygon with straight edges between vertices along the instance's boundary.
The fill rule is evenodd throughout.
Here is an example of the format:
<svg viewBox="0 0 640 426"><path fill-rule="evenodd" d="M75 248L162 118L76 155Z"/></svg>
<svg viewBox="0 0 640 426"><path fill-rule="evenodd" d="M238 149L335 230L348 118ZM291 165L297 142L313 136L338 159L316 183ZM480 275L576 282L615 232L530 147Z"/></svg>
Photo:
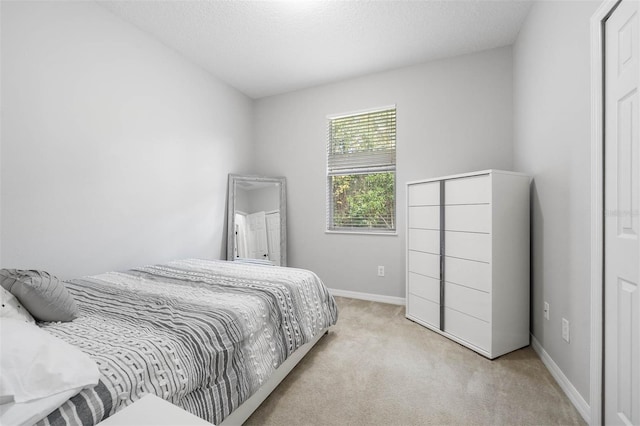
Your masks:
<svg viewBox="0 0 640 426"><path fill-rule="evenodd" d="M622 0L604 0L591 17L591 353L590 424L602 424L604 362L604 24Z"/></svg>

